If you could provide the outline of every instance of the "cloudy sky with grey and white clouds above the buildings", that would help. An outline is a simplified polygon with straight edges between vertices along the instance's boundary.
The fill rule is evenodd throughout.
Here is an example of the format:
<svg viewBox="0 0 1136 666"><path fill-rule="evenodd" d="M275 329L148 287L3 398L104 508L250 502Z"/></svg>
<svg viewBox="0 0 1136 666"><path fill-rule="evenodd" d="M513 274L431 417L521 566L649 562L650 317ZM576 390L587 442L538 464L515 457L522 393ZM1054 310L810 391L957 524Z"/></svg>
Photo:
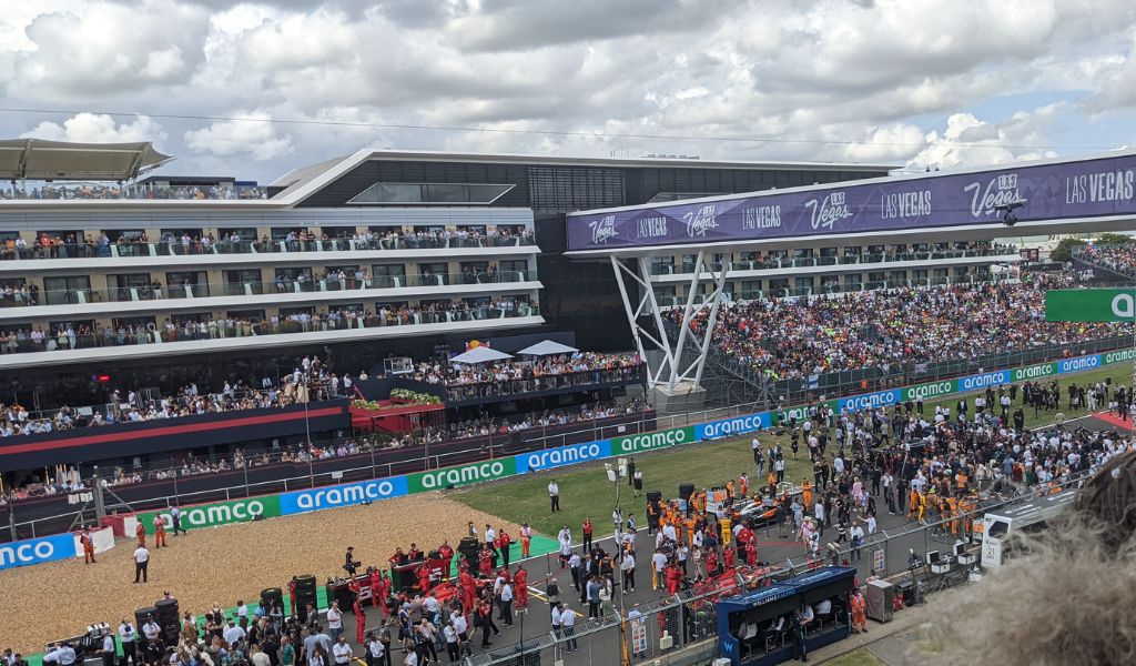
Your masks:
<svg viewBox="0 0 1136 666"><path fill-rule="evenodd" d="M1136 145L1131 0L24 0L0 136L927 167Z"/></svg>

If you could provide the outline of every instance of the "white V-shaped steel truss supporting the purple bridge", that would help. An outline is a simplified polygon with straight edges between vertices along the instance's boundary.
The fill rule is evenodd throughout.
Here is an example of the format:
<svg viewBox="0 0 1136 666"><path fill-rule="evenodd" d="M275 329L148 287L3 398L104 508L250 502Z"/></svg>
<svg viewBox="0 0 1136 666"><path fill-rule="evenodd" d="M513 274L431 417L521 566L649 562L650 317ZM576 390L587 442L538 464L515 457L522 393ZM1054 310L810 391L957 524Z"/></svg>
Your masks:
<svg viewBox="0 0 1136 666"><path fill-rule="evenodd" d="M707 355L710 350L710 339L713 336L715 323L718 320L718 306L721 303L726 289L726 274L728 265L722 264L715 267L705 261L704 250L699 250L694 261L694 273L686 290L686 305L683 307L683 324L679 327L677 340L671 346L671 340L667 335L667 330L662 323L662 311L654 294L654 286L651 283L651 266L646 257L635 257L633 267L626 266L619 258L611 257L611 268L616 274L616 284L619 285L619 295L624 299L624 309L627 313L627 323L632 327L632 335L635 338L635 346L638 349L640 358L646 363L646 352L658 350L662 352L662 361L655 368L648 365L648 385L666 389L674 393L680 383L690 382L693 388L699 389L702 381L702 369L705 367ZM699 284L702 282L702 274L709 273L713 281L713 291L700 302L694 302L698 294ZM638 302L633 303L628 291L627 280L630 278L638 286ZM699 333L691 330L690 322L700 315L704 309L709 309L705 327L702 330L701 339ZM649 324L640 325L640 319L649 317ZM684 346L687 336L694 343L693 350L698 350L695 358L691 359L691 349L684 358Z"/></svg>

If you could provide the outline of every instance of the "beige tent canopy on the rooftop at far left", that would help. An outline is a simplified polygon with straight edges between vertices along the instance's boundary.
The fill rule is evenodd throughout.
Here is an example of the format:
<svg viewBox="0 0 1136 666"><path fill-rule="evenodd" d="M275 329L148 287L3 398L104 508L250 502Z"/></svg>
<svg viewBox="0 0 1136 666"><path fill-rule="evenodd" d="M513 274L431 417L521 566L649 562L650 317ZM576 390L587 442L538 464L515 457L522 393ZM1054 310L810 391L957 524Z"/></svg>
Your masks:
<svg viewBox="0 0 1136 666"><path fill-rule="evenodd" d="M130 181L174 159L137 143L68 143L42 139L0 141L0 178Z"/></svg>

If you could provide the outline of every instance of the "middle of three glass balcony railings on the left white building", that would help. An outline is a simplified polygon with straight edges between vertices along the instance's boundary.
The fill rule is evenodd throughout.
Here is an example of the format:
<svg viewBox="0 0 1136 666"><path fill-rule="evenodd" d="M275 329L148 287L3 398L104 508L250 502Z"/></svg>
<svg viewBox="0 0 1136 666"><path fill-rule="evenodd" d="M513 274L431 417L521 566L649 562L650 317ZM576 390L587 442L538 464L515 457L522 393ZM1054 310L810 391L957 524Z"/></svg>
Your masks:
<svg viewBox="0 0 1136 666"><path fill-rule="evenodd" d="M32 291L25 288L0 288L0 308L65 306L97 302L134 302L176 299L197 299L218 295L261 295L266 293L317 293L331 291L364 291L370 289L400 289L445 285L515 284L536 280L535 272L502 270L493 273L441 273L432 275L379 275L320 280L277 280L275 282L226 282L162 285L119 286L111 289L76 289Z"/></svg>

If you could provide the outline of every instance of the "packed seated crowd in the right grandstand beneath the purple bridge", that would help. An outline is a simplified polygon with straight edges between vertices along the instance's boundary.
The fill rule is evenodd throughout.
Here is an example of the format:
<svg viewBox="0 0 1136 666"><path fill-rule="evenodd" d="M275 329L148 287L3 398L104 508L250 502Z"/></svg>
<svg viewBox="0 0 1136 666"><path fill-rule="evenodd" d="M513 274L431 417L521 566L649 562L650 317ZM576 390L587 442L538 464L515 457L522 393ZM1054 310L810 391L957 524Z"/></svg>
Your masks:
<svg viewBox="0 0 1136 666"><path fill-rule="evenodd" d="M1022 282L736 302L719 308L713 339L728 356L780 380L1075 346L1124 331L1118 324L1046 322L1045 290L1072 285L1069 276L1029 275ZM680 323L682 309L667 316ZM700 311L693 327L704 327L707 316Z"/></svg>

